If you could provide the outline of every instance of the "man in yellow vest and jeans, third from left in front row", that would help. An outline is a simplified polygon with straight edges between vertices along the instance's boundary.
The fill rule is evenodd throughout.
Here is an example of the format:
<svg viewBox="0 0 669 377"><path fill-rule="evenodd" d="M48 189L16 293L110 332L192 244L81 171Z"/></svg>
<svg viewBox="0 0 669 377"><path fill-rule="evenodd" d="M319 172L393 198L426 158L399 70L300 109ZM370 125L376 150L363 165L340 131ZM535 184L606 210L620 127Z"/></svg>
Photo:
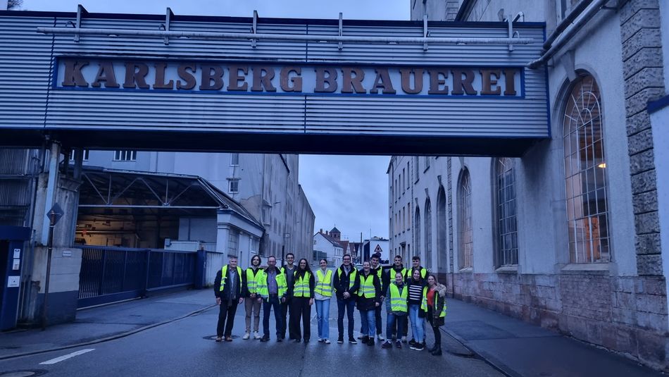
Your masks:
<svg viewBox="0 0 669 377"><path fill-rule="evenodd" d="M281 342L286 333L281 304L286 302L288 286L286 276L277 268L277 259L273 255L267 259L267 268L256 276L256 283L258 295L263 298L263 338L260 341L270 340L270 311L274 308L277 342Z"/></svg>

